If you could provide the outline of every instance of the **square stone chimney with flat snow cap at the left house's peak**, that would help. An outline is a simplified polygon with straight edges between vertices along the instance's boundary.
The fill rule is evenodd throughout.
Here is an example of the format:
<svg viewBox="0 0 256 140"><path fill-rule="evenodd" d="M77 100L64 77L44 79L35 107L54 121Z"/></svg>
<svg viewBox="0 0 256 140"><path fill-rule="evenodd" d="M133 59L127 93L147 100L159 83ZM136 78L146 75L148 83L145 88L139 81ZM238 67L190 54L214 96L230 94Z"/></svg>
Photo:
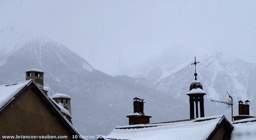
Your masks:
<svg viewBox="0 0 256 140"><path fill-rule="evenodd" d="M38 69L29 69L26 71L26 80L33 79L40 89L48 96L47 90L44 90L44 72Z"/></svg>

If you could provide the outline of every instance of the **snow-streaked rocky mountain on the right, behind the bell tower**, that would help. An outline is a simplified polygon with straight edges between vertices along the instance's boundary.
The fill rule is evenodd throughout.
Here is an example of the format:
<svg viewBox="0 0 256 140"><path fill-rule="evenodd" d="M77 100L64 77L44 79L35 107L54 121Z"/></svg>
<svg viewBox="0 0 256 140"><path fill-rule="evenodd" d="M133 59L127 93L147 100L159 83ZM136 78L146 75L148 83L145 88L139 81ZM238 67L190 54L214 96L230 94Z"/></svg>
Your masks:
<svg viewBox="0 0 256 140"><path fill-rule="evenodd" d="M237 115L237 102L239 100L251 101L250 114L254 115L256 104L255 94L256 87L254 86L256 77L256 64L244 62L240 59L233 58L222 52L213 52L207 54L203 58L198 58L200 63L197 65L197 79L203 84L203 88L207 95L205 96L205 112L206 116L215 115L217 112L225 114L228 118L231 116L229 109L225 110L225 104L216 104L210 102L211 99L226 101L228 95L226 91L229 88L229 93L233 97L233 115ZM140 80L140 85L149 85L152 89L164 92L176 99L182 99L188 92L188 86L194 79L194 65L184 63L184 68L171 73L166 78L160 78L161 68L149 70L146 75L136 77L136 82ZM150 83L150 84L148 84ZM188 103L188 100L185 100ZM212 109L212 105L216 108ZM218 111L218 110L222 111Z"/></svg>

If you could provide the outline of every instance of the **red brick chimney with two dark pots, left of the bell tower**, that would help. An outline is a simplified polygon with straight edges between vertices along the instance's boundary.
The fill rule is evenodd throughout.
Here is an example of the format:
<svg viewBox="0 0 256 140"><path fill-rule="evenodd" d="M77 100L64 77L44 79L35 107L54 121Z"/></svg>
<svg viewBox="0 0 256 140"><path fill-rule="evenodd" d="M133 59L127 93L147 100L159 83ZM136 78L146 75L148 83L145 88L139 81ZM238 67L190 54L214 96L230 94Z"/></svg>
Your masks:
<svg viewBox="0 0 256 140"><path fill-rule="evenodd" d="M144 113L144 100L138 97L133 99L133 113L127 115L129 125L149 124L150 115Z"/></svg>

